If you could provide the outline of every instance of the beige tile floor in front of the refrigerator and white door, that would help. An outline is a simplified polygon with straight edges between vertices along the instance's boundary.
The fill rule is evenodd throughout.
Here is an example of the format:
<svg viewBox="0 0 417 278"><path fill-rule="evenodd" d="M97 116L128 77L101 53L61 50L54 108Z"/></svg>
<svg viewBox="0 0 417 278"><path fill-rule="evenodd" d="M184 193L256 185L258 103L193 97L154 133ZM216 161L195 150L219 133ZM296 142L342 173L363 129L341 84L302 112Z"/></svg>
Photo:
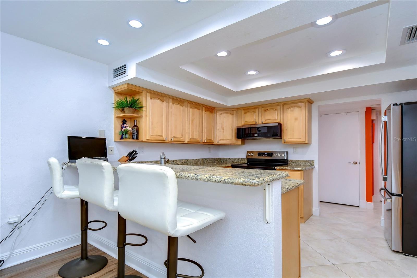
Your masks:
<svg viewBox="0 0 417 278"><path fill-rule="evenodd" d="M320 216L301 224L301 278L414 277L417 258L389 249L374 210L320 202Z"/></svg>

